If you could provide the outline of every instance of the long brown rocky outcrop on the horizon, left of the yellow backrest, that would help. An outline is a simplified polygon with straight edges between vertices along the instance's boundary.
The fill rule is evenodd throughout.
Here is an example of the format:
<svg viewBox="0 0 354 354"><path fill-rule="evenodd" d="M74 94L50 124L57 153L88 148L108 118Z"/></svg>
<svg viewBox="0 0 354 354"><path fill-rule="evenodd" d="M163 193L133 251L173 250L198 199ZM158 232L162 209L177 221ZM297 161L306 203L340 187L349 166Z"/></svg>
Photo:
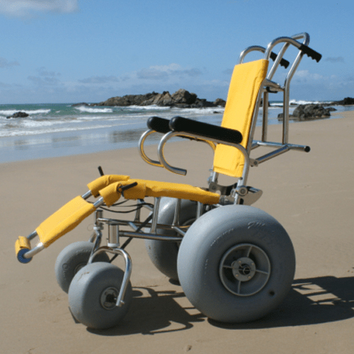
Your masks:
<svg viewBox="0 0 354 354"><path fill-rule="evenodd" d="M195 93L190 93L185 89L179 89L175 93L170 94L169 91L163 93L146 93L144 95L126 95L108 98L107 101L93 103L98 106L127 106L127 105L159 105L162 107L179 107L179 108L205 108L217 107L225 105L222 98L217 98L214 102L207 101L204 98L198 98Z"/></svg>

